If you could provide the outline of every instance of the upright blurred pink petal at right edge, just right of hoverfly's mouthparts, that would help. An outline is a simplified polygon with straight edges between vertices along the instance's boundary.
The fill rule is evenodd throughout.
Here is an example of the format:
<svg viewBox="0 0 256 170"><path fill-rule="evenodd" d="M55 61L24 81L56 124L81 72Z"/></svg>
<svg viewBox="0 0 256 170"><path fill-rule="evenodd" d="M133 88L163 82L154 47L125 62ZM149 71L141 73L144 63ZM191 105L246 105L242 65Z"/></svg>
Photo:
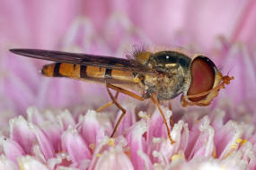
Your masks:
<svg viewBox="0 0 256 170"><path fill-rule="evenodd" d="M256 77L253 62L253 55L242 44L234 44L227 51L226 58L222 61L223 66L225 66L223 72L230 71L229 74L234 76L234 80L231 81L230 85L226 86L225 90L220 91L218 98L231 98L234 105L243 104L248 106L247 109L254 110L252 100L256 95L254 90L256 87ZM230 114L232 117L237 116L234 115L235 112Z"/></svg>

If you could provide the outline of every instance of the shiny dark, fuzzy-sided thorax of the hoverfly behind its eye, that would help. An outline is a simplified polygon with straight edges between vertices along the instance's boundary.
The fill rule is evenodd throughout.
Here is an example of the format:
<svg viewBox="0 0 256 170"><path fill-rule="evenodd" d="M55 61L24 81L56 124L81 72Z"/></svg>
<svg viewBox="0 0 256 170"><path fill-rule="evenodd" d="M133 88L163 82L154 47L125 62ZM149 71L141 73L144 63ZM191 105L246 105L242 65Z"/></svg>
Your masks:
<svg viewBox="0 0 256 170"><path fill-rule="evenodd" d="M152 55L146 65L158 73L143 77L145 98L154 92L160 100L169 100L187 91L190 85L191 59L175 51L162 51Z"/></svg>

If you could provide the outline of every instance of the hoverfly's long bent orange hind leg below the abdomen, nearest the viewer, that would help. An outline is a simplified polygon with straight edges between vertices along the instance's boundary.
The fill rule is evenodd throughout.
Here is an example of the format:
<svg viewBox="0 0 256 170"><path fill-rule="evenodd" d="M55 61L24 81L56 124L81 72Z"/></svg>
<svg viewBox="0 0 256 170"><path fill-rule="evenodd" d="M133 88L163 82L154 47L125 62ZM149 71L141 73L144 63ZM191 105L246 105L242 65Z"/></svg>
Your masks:
<svg viewBox="0 0 256 170"><path fill-rule="evenodd" d="M119 88L117 86L114 86L108 82L106 82L106 87L107 87L107 90L108 90L108 93L110 95L110 98L112 99L112 102L117 106L119 107L119 109L122 111L122 115L119 117L119 120L118 120L118 123L115 125L114 127L114 130L111 134L111 138L114 136L115 132L117 132L118 128L119 128L119 124L122 122L124 116L126 115L126 109L122 106L120 106L119 102L116 100L116 98L113 97L112 93L110 92L110 89L114 89L116 90L117 92L120 92L120 93L123 93L123 94L126 94L132 98L137 98L138 100L141 100L143 101L145 98L143 97L140 97L138 96L137 94L131 92L131 91L128 91L127 89L122 89L122 88Z"/></svg>

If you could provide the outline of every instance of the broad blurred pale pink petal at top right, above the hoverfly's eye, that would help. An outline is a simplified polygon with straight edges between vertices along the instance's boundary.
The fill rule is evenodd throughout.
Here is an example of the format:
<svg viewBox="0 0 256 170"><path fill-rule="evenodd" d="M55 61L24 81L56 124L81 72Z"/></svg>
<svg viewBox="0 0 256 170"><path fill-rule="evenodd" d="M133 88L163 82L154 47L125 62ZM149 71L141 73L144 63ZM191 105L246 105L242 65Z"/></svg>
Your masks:
<svg viewBox="0 0 256 170"><path fill-rule="evenodd" d="M191 43L210 49L217 35L232 37L247 1L196 0L186 5L182 28L189 32Z"/></svg>

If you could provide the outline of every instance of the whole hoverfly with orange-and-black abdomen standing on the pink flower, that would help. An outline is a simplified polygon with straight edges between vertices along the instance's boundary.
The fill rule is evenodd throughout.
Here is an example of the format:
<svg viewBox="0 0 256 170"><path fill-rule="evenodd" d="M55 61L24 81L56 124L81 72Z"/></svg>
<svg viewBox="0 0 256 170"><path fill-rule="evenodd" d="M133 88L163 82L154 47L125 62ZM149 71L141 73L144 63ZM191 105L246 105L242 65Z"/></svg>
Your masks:
<svg viewBox="0 0 256 170"><path fill-rule="evenodd" d="M216 65L206 56L197 55L191 59L177 51L139 51L133 58L122 59L102 55L86 55L40 49L10 49L17 55L53 61L44 65L42 74L49 77L67 77L78 80L105 83L111 102L100 107L101 111L115 104L122 111L110 137L113 137L126 110L117 98L123 93L138 100L151 98L163 116L168 138L170 129L160 107L160 102L171 100L180 94L182 106L208 106L220 89L225 88L234 77L223 76ZM141 89L140 95L125 89ZM110 89L116 91L115 96ZM171 103L170 103L171 104ZM171 105L170 105L171 107ZM170 118L172 123L172 117ZM173 126L173 123L172 123Z"/></svg>

